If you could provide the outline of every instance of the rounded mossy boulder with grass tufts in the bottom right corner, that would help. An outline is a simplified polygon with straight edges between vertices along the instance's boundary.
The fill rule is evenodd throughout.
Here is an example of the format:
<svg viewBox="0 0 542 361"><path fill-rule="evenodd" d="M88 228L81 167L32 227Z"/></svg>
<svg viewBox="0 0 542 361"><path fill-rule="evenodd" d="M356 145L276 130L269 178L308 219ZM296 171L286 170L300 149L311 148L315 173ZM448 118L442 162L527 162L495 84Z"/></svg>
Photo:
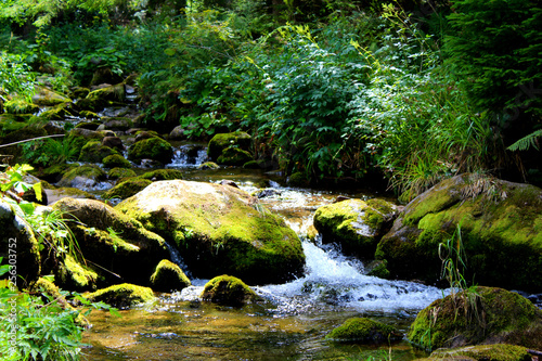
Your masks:
<svg viewBox="0 0 542 361"><path fill-rule="evenodd" d="M502 343L542 349L542 310L502 288L475 292L450 295L423 309L409 340L425 349Z"/></svg>

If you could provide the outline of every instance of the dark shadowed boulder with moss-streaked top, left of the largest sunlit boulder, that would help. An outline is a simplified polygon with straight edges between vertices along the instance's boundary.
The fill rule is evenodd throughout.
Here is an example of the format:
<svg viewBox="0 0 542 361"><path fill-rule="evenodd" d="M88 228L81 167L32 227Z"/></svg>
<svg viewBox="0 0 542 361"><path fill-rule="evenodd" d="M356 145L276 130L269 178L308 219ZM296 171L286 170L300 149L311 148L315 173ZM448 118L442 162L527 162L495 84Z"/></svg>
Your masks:
<svg viewBox="0 0 542 361"><path fill-rule="evenodd" d="M63 198L53 207L79 220L67 224L82 255L105 284L120 278L146 285L156 265L169 257L163 237L102 202Z"/></svg>

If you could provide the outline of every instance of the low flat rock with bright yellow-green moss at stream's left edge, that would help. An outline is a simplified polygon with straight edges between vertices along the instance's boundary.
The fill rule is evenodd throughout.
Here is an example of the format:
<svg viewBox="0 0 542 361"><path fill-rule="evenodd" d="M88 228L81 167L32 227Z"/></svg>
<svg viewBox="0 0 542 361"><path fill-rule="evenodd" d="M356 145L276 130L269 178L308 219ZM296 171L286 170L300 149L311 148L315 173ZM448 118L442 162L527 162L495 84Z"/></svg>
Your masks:
<svg viewBox="0 0 542 361"><path fill-rule="evenodd" d="M155 299L151 288L130 283L116 284L107 288L99 289L85 295L85 298L91 302L102 301L119 309L151 302Z"/></svg>

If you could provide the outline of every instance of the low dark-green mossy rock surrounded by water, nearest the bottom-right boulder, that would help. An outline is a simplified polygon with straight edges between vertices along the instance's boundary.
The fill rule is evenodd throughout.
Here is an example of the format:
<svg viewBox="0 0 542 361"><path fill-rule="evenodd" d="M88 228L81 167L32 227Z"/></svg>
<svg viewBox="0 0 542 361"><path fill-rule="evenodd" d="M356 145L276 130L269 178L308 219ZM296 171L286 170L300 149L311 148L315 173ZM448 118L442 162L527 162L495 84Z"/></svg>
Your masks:
<svg viewBox="0 0 542 361"><path fill-rule="evenodd" d="M353 318L334 328L326 339L338 343L382 344L403 338L393 326L366 318Z"/></svg>

